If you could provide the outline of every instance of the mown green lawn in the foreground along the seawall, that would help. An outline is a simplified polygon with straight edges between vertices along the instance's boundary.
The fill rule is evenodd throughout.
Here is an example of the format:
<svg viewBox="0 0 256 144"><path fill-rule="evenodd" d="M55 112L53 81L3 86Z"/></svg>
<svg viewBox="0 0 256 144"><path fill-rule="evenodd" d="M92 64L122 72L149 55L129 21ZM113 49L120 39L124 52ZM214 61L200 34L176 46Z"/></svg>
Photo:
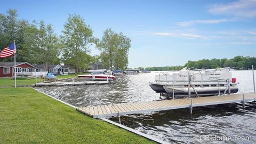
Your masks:
<svg viewBox="0 0 256 144"><path fill-rule="evenodd" d="M0 89L0 143L153 143L30 87Z"/></svg>

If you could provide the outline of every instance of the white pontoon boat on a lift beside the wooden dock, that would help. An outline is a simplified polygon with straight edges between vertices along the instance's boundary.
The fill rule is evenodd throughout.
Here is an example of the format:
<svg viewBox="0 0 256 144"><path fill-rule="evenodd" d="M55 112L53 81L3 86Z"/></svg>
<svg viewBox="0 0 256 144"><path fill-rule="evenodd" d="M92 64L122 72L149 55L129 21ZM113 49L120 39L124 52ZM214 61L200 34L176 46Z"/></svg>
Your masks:
<svg viewBox="0 0 256 144"><path fill-rule="evenodd" d="M155 82L149 85L157 93L178 96L203 96L237 93L236 78L232 78L233 68L187 69L161 72Z"/></svg>

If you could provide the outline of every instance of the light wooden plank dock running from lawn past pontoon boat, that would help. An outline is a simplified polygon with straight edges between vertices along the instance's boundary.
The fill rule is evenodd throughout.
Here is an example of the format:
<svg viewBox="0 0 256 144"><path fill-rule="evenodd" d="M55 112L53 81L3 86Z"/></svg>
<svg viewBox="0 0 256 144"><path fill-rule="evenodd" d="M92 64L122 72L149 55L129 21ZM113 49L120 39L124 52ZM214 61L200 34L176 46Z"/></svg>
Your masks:
<svg viewBox="0 0 256 144"><path fill-rule="evenodd" d="M92 116L102 118L107 116L120 116L127 114L141 114L152 111L189 108L198 106L218 105L223 103L243 102L256 100L256 93L231 94L223 96L198 97L187 99L162 100L151 102L124 103L117 105L104 105L95 107L79 107L78 111ZM192 102L192 103L191 103ZM192 104L192 105L191 105Z"/></svg>

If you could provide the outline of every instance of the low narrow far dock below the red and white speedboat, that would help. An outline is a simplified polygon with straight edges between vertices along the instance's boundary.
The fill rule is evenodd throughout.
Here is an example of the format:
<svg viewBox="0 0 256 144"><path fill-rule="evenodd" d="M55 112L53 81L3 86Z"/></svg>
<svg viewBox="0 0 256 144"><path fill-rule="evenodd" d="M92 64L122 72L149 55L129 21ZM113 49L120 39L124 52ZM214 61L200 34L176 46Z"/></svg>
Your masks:
<svg viewBox="0 0 256 144"><path fill-rule="evenodd" d="M85 82L51 82L37 83L33 86L53 86L53 85L89 85L89 84L108 84L108 81L85 81Z"/></svg>

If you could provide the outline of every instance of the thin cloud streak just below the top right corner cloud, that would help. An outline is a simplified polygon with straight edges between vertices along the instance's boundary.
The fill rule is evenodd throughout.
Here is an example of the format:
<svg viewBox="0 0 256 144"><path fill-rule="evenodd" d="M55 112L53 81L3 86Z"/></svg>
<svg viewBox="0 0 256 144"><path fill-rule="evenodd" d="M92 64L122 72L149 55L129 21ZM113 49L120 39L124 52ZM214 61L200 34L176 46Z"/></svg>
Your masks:
<svg viewBox="0 0 256 144"><path fill-rule="evenodd" d="M220 23L220 22L226 22L230 21L228 19L213 19L213 20L191 20L191 21L183 21L183 22L178 22L177 24L179 26L190 26L194 25L196 23L202 23L202 24L214 24L214 23Z"/></svg>

